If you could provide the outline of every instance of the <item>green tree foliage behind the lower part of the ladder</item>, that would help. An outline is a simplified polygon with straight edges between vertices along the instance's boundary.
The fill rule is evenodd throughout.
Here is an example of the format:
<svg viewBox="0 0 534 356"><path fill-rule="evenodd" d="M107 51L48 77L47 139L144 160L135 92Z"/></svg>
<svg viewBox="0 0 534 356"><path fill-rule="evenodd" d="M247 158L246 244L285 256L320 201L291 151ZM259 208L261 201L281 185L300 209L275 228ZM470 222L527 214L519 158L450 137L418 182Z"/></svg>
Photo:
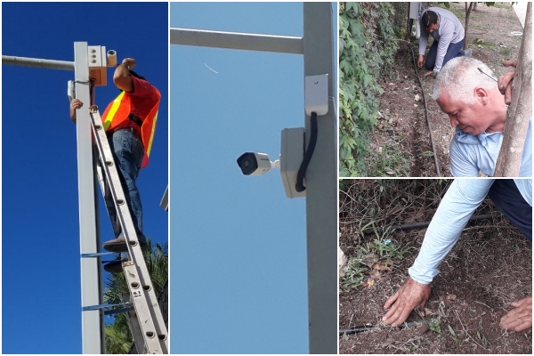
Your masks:
<svg viewBox="0 0 534 356"><path fill-rule="evenodd" d="M149 269L150 279L154 292L159 295L166 286L168 279L168 252L166 244L152 245L147 239L148 248L145 253L145 262ZM122 303L122 295L129 294L123 272L110 274L104 287L104 303ZM130 352L134 338L130 332L130 326L125 313L115 314L112 324L104 327L106 352L121 354Z"/></svg>

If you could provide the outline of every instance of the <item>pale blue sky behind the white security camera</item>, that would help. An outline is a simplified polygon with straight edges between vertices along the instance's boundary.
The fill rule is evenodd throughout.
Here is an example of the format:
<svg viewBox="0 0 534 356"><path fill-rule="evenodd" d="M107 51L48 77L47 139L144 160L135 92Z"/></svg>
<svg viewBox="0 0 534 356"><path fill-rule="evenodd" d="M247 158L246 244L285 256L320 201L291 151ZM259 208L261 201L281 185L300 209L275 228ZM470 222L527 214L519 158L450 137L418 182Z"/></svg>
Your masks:
<svg viewBox="0 0 534 356"><path fill-rule="evenodd" d="M303 36L302 3L170 9L172 28ZM244 176L236 163L278 158L280 131L304 125L303 56L170 53L171 352L306 353L305 200L286 198L279 170Z"/></svg>

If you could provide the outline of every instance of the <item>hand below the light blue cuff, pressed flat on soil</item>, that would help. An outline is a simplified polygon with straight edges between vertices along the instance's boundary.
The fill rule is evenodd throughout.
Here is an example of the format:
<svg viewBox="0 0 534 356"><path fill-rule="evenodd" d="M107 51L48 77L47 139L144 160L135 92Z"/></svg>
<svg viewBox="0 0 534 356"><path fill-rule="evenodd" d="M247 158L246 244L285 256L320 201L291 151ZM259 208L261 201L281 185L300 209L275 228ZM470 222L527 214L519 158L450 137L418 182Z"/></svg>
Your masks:
<svg viewBox="0 0 534 356"><path fill-rule="evenodd" d="M419 305L421 313L425 315L425 303L430 296L430 289L429 284L417 283L414 279L408 278L401 289L385 302L384 309L390 307L392 309L385 313L382 321L393 328L398 327L408 319L409 313L417 305Z"/></svg>

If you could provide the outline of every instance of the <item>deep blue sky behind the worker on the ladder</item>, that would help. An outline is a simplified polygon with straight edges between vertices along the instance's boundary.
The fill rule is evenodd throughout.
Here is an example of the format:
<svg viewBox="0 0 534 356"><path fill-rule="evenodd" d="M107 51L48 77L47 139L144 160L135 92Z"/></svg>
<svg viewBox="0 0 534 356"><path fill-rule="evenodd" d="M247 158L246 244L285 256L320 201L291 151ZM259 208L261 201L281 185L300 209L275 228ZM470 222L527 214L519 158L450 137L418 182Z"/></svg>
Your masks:
<svg viewBox="0 0 534 356"><path fill-rule="evenodd" d="M168 4L3 3L2 54L74 61L74 42L105 45L162 93L150 164L138 179L145 234L166 242ZM142 26L140 26L142 25ZM112 76L108 69L108 78ZM74 72L2 66L2 351L79 353L80 259ZM105 109L118 90L99 87ZM191 173L191 172L190 172ZM100 193L100 190L99 190ZM102 240L113 239L101 211Z"/></svg>

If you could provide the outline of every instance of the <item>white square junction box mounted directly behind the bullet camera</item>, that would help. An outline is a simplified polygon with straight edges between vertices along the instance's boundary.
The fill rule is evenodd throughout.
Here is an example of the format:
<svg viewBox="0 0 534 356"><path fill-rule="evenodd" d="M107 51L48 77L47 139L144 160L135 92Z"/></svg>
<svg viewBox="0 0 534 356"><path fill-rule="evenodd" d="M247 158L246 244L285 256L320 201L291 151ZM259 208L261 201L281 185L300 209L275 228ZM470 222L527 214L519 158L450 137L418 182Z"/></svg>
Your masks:
<svg viewBox="0 0 534 356"><path fill-rule="evenodd" d="M295 190L296 174L304 158L304 128L285 128L282 130L280 150L280 174L287 198L306 196L306 190ZM304 186L305 186L304 181Z"/></svg>

